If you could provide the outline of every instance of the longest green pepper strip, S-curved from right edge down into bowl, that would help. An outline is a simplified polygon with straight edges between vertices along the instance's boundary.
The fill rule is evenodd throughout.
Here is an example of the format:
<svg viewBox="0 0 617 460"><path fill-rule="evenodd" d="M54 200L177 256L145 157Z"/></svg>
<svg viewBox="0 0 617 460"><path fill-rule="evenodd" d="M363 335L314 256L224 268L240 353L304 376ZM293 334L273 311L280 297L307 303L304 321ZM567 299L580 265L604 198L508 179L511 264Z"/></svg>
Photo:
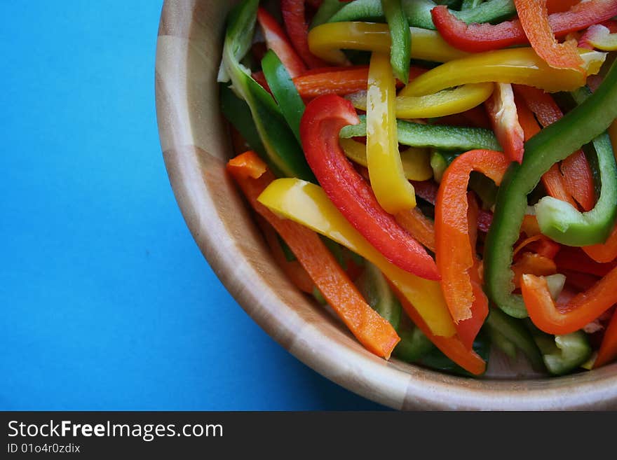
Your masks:
<svg viewBox="0 0 617 460"><path fill-rule="evenodd" d="M587 144L617 118L617 64L588 99L525 143L522 164L513 163L497 193L495 214L485 242L484 284L489 298L510 316L527 316L520 295L512 293L513 245L527 209L527 195L550 167Z"/></svg>

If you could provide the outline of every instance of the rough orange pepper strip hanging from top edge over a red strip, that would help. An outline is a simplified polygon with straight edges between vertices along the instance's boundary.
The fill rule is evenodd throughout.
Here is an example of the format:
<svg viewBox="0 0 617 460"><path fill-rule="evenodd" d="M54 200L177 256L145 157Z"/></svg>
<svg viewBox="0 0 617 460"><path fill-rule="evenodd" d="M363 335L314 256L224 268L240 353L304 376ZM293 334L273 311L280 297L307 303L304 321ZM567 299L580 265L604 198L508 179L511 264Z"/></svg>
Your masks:
<svg viewBox="0 0 617 460"><path fill-rule="evenodd" d="M538 56L555 69L584 72L576 41L557 43L548 22L546 0L514 0L514 4L525 35Z"/></svg>

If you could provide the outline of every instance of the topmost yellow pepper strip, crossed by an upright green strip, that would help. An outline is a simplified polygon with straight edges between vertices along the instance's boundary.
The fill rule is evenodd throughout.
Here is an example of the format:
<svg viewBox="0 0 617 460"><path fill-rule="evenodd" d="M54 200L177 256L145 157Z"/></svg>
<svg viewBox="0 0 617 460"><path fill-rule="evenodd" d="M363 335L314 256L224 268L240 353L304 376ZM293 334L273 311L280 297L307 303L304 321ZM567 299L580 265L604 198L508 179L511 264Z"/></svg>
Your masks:
<svg viewBox="0 0 617 460"><path fill-rule="evenodd" d="M439 32L409 27L412 34L412 59L447 62L469 53L457 50L441 38ZM390 29L373 22L328 22L308 32L311 53L333 64L345 65L341 50L390 53Z"/></svg>

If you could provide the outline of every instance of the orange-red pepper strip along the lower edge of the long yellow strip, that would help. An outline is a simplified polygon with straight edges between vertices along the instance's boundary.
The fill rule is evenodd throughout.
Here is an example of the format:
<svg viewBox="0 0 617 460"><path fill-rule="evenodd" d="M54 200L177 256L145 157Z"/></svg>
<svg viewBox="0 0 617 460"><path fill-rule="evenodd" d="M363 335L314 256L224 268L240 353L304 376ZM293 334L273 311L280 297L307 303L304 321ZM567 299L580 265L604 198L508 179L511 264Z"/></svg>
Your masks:
<svg viewBox="0 0 617 460"><path fill-rule="evenodd" d="M398 300L400 300L400 305L405 309L405 313L407 313L409 319L420 328L422 333L428 337L428 340L433 342L435 347L438 347L443 354L473 375L481 375L487 370L487 363L484 362L482 357L473 351L473 349L466 347L457 335L453 335L452 337L433 335L433 333L430 332L430 328L426 326L422 316L420 316L414 306L409 303L405 295L402 295L392 284L390 284L390 286L393 288L393 292Z"/></svg>

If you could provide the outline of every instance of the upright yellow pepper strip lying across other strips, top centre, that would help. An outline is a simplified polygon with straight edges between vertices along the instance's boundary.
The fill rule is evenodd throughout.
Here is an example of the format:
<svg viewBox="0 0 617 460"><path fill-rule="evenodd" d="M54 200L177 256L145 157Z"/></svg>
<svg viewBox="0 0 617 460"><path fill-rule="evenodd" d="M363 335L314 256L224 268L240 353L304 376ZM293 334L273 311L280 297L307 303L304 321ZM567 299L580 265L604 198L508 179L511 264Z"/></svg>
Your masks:
<svg viewBox="0 0 617 460"><path fill-rule="evenodd" d="M373 53L367 90L367 167L377 202L396 214L416 206L416 193L402 169L396 135L396 82L390 56Z"/></svg>

